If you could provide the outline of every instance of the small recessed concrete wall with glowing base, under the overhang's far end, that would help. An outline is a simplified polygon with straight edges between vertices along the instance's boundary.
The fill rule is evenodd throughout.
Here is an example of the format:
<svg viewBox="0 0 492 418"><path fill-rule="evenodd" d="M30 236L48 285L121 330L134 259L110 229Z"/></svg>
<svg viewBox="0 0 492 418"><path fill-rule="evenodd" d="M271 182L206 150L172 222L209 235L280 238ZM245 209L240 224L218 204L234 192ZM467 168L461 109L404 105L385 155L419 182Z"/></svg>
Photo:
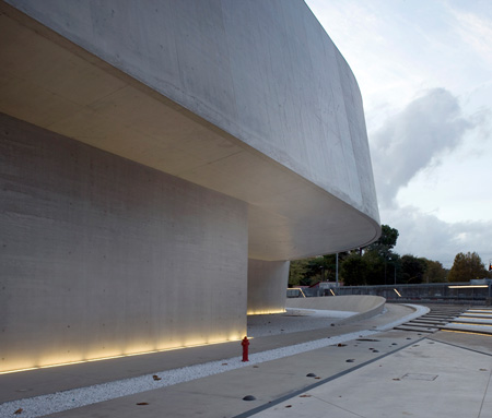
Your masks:
<svg viewBox="0 0 492 418"><path fill-rule="evenodd" d="M248 314L285 311L289 261L248 260Z"/></svg>

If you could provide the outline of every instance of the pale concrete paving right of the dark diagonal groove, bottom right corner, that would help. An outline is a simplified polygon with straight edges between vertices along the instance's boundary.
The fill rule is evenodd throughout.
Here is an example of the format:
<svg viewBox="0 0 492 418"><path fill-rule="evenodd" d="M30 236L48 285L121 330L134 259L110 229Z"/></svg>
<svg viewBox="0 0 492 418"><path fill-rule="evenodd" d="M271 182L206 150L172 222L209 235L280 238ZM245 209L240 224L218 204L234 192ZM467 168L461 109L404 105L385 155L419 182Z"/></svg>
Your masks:
<svg viewBox="0 0 492 418"><path fill-rule="evenodd" d="M424 338L253 417L490 417L492 356Z"/></svg>

